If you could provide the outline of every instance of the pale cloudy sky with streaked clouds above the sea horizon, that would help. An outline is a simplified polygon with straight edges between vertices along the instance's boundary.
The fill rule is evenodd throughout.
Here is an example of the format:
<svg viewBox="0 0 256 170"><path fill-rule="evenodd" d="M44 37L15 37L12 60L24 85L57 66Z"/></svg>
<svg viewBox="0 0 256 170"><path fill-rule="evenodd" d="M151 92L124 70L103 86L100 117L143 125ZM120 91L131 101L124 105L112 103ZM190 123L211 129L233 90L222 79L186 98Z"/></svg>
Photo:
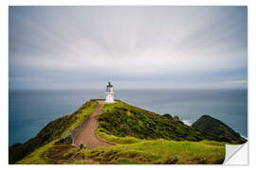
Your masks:
<svg viewBox="0 0 256 170"><path fill-rule="evenodd" d="M9 7L9 89L246 89L247 7Z"/></svg>

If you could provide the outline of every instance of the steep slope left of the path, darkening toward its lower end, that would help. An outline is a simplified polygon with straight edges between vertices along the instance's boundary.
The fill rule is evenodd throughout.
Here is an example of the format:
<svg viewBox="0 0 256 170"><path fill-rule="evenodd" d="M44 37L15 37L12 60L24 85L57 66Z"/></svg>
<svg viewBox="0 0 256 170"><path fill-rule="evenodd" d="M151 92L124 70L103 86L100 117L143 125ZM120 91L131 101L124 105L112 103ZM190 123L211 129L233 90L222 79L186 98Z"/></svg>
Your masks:
<svg viewBox="0 0 256 170"><path fill-rule="evenodd" d="M9 163L22 160L29 153L37 148L63 138L73 128L78 126L85 115L89 115L98 105L96 101L88 101L79 110L72 114L65 115L46 125L34 138L25 144L13 144L9 147Z"/></svg>

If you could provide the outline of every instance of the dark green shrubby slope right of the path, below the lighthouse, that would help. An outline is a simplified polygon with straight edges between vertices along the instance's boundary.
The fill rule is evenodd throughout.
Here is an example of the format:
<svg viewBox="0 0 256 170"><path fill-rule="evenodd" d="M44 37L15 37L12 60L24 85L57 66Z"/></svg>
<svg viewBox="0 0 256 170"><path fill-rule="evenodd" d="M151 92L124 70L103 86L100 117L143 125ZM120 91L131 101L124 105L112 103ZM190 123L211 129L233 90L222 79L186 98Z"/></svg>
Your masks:
<svg viewBox="0 0 256 170"><path fill-rule="evenodd" d="M207 139L198 130L174 121L172 116L162 116L124 102L105 105L99 118L99 130L119 137L138 139L167 139L175 141L201 141Z"/></svg>

